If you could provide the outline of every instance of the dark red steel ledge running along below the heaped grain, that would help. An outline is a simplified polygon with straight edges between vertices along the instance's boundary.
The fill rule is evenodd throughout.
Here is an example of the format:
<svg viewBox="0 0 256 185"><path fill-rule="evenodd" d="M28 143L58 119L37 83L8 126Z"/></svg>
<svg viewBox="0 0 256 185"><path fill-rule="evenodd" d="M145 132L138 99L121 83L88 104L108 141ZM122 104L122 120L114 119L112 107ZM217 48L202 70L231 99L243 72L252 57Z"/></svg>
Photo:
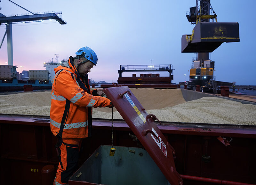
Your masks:
<svg viewBox="0 0 256 185"><path fill-rule="evenodd" d="M1 115L0 123L8 124L28 124L38 126L50 126L49 116L33 115ZM112 121L104 119L93 119L93 129L111 129ZM131 131L126 122L114 120L115 130ZM164 134L199 135L199 136L226 136L256 138L256 126L248 125L220 125L205 123L163 123L157 127Z"/></svg>

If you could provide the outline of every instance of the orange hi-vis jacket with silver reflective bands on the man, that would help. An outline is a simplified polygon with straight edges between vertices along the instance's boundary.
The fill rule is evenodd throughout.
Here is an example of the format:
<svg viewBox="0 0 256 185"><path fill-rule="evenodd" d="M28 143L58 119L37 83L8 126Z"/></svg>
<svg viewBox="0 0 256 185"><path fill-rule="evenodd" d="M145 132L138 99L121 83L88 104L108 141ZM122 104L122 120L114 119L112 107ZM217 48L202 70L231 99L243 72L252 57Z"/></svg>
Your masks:
<svg viewBox="0 0 256 185"><path fill-rule="evenodd" d="M88 75L81 78L74 58L54 69L52 83L51 130L61 138L84 138L91 135L92 107L107 107L110 100L90 90Z"/></svg>

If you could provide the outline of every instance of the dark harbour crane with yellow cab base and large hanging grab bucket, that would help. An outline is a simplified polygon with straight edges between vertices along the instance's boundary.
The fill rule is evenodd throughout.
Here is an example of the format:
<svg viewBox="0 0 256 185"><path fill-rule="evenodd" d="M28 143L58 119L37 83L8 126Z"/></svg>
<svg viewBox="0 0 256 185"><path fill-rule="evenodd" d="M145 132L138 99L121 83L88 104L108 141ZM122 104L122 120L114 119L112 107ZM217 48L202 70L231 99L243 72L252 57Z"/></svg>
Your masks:
<svg viewBox="0 0 256 185"><path fill-rule="evenodd" d="M210 15L211 10L213 15ZM215 80L214 61L209 59L209 53L223 42L239 42L239 24L217 22L217 15L210 0L196 0L196 6L190 8L186 17L188 22L196 26L192 34L182 35L181 52L197 53L197 58L193 60L189 81L181 82L180 85L188 85L191 90L195 90L195 86L199 85L202 91L213 93L217 93L217 87L220 85L232 86L233 83Z"/></svg>

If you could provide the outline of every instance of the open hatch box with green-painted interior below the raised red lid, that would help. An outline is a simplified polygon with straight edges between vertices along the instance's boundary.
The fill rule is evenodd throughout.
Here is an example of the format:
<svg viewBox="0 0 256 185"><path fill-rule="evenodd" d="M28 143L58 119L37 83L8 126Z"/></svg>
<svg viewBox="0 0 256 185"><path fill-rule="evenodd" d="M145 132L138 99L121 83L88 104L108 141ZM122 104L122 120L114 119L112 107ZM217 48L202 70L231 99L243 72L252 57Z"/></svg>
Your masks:
<svg viewBox="0 0 256 185"><path fill-rule="evenodd" d="M142 148L100 145L69 179L69 185L170 185L148 152Z"/></svg>

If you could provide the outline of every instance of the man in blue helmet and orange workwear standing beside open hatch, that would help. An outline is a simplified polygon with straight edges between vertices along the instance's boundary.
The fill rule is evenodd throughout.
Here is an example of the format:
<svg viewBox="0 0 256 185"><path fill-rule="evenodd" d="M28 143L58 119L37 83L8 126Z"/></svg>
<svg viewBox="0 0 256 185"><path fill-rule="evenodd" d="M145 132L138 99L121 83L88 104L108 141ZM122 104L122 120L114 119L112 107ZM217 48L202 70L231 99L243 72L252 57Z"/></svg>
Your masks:
<svg viewBox="0 0 256 185"><path fill-rule="evenodd" d="M55 68L52 83L51 130L58 137L60 163L54 185L68 184L78 162L81 140L91 136L92 107L113 107L101 97L103 88L90 90L88 72L98 57L89 47L80 48L76 57Z"/></svg>

